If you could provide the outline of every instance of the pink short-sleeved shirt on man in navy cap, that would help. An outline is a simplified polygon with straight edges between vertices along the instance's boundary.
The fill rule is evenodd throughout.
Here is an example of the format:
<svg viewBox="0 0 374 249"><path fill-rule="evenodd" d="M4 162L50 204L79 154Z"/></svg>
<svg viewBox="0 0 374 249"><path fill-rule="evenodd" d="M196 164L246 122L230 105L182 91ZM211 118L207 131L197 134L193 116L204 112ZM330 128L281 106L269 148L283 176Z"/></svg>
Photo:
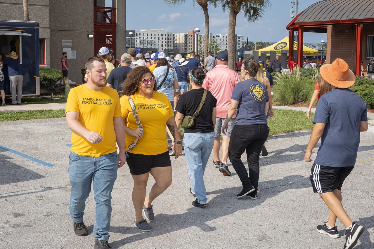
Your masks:
<svg viewBox="0 0 374 249"><path fill-rule="evenodd" d="M217 65L206 73L202 86L217 99L217 117L226 118L231 96L238 82L240 82L239 75L227 65ZM235 114L234 117L236 117Z"/></svg>

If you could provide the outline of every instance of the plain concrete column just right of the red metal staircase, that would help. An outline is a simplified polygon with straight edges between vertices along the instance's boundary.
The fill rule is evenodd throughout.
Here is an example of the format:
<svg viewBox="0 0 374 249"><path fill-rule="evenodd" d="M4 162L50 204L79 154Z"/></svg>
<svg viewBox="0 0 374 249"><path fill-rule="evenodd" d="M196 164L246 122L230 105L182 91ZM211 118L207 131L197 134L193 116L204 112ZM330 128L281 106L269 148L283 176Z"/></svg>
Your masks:
<svg viewBox="0 0 374 249"><path fill-rule="evenodd" d="M114 7L114 6L113 6ZM116 0L117 7L117 43L116 58L126 52L126 0ZM135 33L134 33L135 37Z"/></svg>

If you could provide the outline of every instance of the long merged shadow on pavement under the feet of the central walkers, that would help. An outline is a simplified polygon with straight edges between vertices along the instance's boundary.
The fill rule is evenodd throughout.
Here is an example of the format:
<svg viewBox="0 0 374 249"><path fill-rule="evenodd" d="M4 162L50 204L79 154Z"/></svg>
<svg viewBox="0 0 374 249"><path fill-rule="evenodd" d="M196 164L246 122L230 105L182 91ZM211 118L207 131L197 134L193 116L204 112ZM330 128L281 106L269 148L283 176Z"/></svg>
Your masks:
<svg viewBox="0 0 374 249"><path fill-rule="evenodd" d="M236 199L235 195L241 191L241 187L215 190L207 193L218 194L218 196L213 197L207 203L205 209L193 207L190 204L191 207L185 213L174 215L156 213L155 222L151 223L153 231L141 232L136 227L111 227L111 232L133 235L122 240L113 241L110 244L112 248L118 248L131 242L172 233L192 226L200 228L203 232L215 231L217 228L206 224L206 222L232 214L238 210L247 210L261 205L267 198L277 196L282 191L307 187L310 187L309 178L304 178L301 175L292 175L282 179L260 182L258 187L260 192L257 200L251 200L247 197ZM223 197L226 199L222 199ZM229 201L227 201L227 197L230 198ZM191 202L193 200L194 197L191 196ZM223 202L223 200L226 201Z"/></svg>

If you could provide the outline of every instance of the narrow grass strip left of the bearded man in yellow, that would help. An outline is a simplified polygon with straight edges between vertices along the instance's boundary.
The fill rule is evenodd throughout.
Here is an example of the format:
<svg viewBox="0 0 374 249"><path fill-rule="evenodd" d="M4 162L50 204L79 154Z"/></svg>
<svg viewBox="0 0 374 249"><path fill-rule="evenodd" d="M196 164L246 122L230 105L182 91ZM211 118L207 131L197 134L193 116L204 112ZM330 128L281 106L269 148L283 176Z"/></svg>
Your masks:
<svg viewBox="0 0 374 249"><path fill-rule="evenodd" d="M22 97L23 99L23 97ZM25 119L49 119L65 117L65 109L62 110L40 110L40 111L19 111L16 113L0 112L0 121L14 121Z"/></svg>

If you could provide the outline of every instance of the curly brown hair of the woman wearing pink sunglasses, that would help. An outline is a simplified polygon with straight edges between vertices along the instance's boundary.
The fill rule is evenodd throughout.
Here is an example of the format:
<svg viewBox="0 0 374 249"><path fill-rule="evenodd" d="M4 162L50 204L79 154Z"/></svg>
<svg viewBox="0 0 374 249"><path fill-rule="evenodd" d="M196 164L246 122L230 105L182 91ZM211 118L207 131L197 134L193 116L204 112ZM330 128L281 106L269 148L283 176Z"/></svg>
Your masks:
<svg viewBox="0 0 374 249"><path fill-rule="evenodd" d="M144 74L150 73L152 77L154 77L153 73L147 67L135 67L134 69L130 70L127 74L126 79L121 84L122 91L121 96L127 95L131 96L134 95L138 91L139 82L143 80ZM157 82L154 82L153 90L156 91L157 89Z"/></svg>

